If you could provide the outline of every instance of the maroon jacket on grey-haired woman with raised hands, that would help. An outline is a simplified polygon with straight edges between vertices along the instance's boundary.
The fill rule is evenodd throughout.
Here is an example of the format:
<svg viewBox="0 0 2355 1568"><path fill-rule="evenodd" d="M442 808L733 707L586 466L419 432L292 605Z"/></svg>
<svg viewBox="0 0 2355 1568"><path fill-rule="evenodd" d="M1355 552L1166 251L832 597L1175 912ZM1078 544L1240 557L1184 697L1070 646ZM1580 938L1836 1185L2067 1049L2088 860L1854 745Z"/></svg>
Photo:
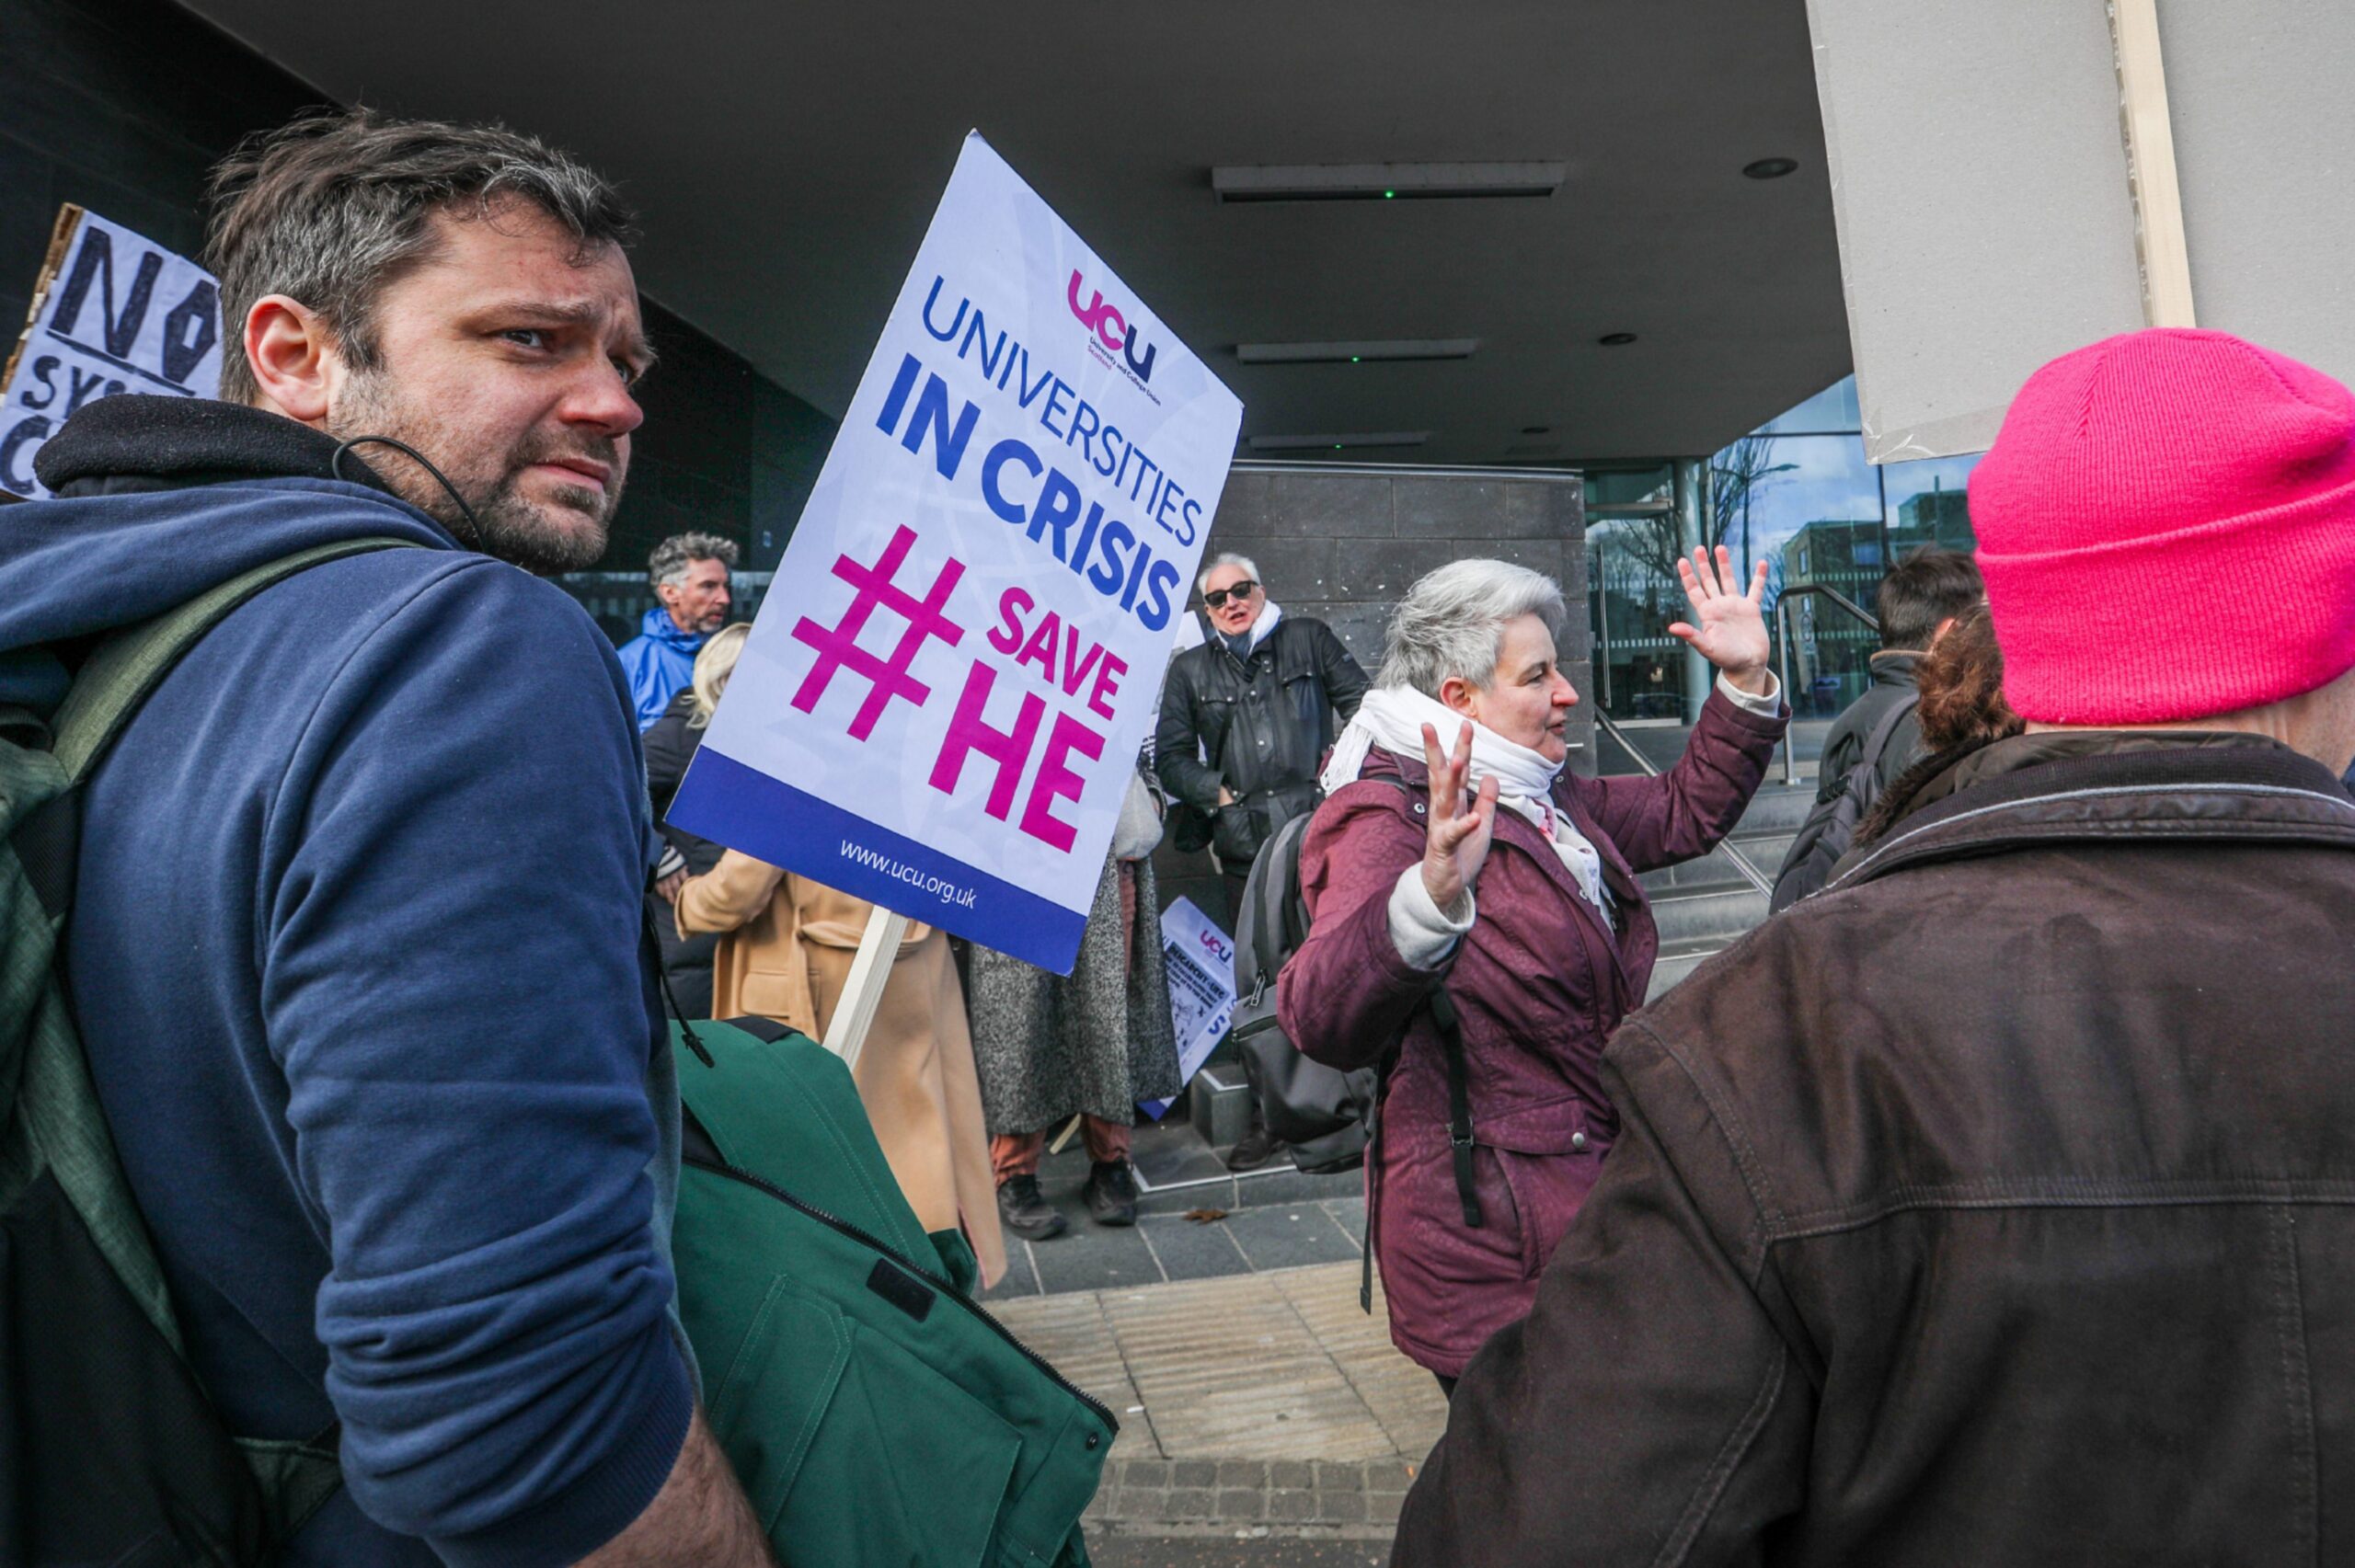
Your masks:
<svg viewBox="0 0 2355 1568"><path fill-rule="evenodd" d="M1618 930L1578 897L1528 819L1498 812L1479 921L1446 970L1462 1015L1481 1229L1465 1224L1455 1196L1446 1057L1422 1010L1441 972L1408 968L1389 939L1389 890L1422 859L1422 763L1375 751L1361 777L1399 772L1411 789L1352 784L1316 810L1300 848L1312 925L1283 965L1276 1012L1300 1050L1340 1069L1380 1059L1406 1031L1366 1201L1389 1337L1434 1373L1455 1377L1528 1311L1618 1130L1597 1064L1644 1001L1660 949L1634 873L1707 855L1733 831L1783 727L1712 692L1684 758L1658 779L1561 775L1554 800L1601 852Z"/></svg>

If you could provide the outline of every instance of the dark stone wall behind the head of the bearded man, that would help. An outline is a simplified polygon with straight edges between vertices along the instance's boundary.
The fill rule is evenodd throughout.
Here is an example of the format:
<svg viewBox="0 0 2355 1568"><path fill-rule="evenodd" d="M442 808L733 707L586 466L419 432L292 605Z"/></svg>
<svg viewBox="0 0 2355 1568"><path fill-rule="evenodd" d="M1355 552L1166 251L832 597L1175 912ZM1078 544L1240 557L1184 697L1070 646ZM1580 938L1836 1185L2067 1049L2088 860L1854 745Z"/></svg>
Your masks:
<svg viewBox="0 0 2355 1568"><path fill-rule="evenodd" d="M0 341L24 330L61 202L193 257L214 160L318 104L170 0L0 0ZM735 539L749 570L772 567L834 440L831 419L652 299L645 325L662 363L641 388L612 577L565 582L584 600L638 593L629 574L688 527ZM636 631L633 610L601 622Z"/></svg>

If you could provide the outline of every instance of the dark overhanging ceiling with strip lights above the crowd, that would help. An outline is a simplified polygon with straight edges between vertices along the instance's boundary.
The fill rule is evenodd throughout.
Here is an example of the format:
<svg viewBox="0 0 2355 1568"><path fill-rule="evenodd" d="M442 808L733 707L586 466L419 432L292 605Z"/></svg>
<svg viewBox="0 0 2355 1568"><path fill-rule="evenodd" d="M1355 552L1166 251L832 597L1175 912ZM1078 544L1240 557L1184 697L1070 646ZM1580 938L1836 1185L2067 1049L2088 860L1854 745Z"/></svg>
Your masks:
<svg viewBox="0 0 2355 1568"><path fill-rule="evenodd" d="M341 101L504 118L619 177L648 294L829 414L970 127L1234 386L1246 436L1427 428L1349 457L1434 464L1698 454L1849 370L1804 0L193 9ZM1745 179L1759 158L1799 170ZM1571 174L1547 200L1210 195L1215 165L1418 160ZM1422 337L1481 351L1234 358Z"/></svg>

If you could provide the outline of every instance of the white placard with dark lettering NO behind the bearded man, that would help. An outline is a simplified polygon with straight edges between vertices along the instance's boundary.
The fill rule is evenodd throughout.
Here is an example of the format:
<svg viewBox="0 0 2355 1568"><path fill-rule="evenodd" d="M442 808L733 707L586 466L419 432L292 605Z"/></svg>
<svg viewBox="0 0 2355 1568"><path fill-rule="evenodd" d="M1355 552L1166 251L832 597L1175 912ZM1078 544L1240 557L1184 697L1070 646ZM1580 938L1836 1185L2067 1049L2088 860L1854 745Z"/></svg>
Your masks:
<svg viewBox="0 0 2355 1568"><path fill-rule="evenodd" d="M0 377L0 490L49 494L33 452L73 410L115 393L217 398L221 290L195 261L68 205Z"/></svg>

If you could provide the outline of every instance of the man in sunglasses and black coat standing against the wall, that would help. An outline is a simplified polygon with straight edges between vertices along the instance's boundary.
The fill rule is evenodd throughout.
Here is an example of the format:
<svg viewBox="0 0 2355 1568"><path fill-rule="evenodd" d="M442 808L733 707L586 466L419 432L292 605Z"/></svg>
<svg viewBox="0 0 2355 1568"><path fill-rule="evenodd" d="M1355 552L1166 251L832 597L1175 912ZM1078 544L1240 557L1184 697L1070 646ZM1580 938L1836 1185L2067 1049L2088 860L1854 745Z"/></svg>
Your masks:
<svg viewBox="0 0 2355 1568"><path fill-rule="evenodd" d="M1232 921L1260 845L1316 803L1316 768L1371 680L1331 626L1286 617L1267 598L1251 558L1213 556L1196 586L1210 636L1170 664L1154 770L1175 800L1210 822ZM1269 1154L1274 1140L1253 1109L1253 1130L1227 1163L1248 1170Z"/></svg>

